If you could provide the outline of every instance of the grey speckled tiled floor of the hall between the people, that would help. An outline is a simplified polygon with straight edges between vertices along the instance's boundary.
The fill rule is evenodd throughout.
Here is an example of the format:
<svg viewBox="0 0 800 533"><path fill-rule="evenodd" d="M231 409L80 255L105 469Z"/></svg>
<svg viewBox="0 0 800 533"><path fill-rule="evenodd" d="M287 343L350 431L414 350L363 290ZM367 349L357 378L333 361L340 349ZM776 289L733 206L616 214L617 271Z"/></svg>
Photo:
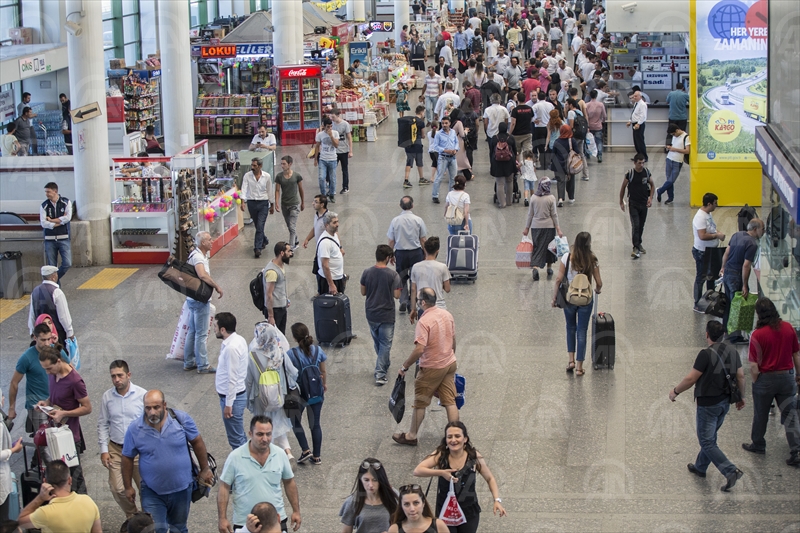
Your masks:
<svg viewBox="0 0 800 533"><path fill-rule="evenodd" d="M479 482L486 511L480 531L798 531L800 470L784 464L788 447L779 421L770 421L766 456L740 448L750 434L749 390L748 405L729 415L719 436L722 449L745 472L744 478L732 493L724 494L719 490L724 480L715 470L705 480L686 471L698 451L694 406L689 393L674 404L667 393L689 372L704 344L706 318L691 309L694 209L687 205L688 171L678 180L675 204L657 204L650 210L644 234L648 253L638 261L630 259L629 222L618 206L630 154L610 153L601 165L592 162L591 180L577 183L577 202L559 210L561 227L570 240L579 231L592 233L604 281L600 306L614 316L617 327L615 370L589 370L577 378L564 372L564 318L549 305L551 282L543 278L534 283L530 272L514 266L526 210L520 204L505 210L492 204L493 180L482 140L483 134L475 156L477 178L467 187L475 233L481 239L480 276L474 285L454 285L447 296L456 321L459 368L467 378L461 417L497 477L509 512L500 519L486 511L491 509L491 496ZM309 206L318 191L307 151L307 147L279 150L279 155L294 156L296 171L306 177L301 235L311 228ZM431 203L430 187L401 188L404 160L392 122L381 126L377 142L355 145L351 192L337 195L331 206L340 215L346 271L354 280L373 264L375 246L386 242L388 224L399 213L398 202L406 192L415 198L414 212L426 220L430 234L447 233L444 206ZM649 167L660 185L664 155L651 154ZM734 215L735 211L725 210L716 214L725 233L734 231ZM272 242L287 237L281 217L269 218L267 234ZM248 282L266 262L252 257L252 238L248 226L211 261L213 277L225 291L214 304L237 316L240 332L248 340L252 324L260 319L250 302ZM311 250L300 249L287 271L290 324L313 323L312 256ZM96 443L98 402L111 386L110 361L126 359L135 383L163 389L172 406L188 410L220 469L229 447L213 377L184 373L179 363L164 358L181 298L158 280L155 266L139 267L113 289L76 290L101 271L72 269L64 290L80 340L81 374L94 405L92 415L83 419L88 442L83 463L104 530L116 531L122 517L108 494ZM377 388L372 381L375 354L356 282L351 282L348 293L358 339L345 349L328 350L323 466L301 465L297 470L301 531L310 533L340 530L338 511L364 457L383 461L395 486L411 482L414 466L433 451L445 423L444 412L434 408L422 427L418 448L401 447L390 439L398 429L387 409L390 390ZM6 392L14 362L28 344L26 320L27 311L18 312L0 326L0 386ZM392 372L413 344L407 316L398 315L397 320ZM209 341L209 353L215 361L216 339ZM406 416L402 431L408 427ZM21 425L17 424L15 437ZM295 443L294 437L291 441ZM15 457L12 465L20 471L19 459ZM216 519L212 495L193 506L190 530L212 533Z"/></svg>

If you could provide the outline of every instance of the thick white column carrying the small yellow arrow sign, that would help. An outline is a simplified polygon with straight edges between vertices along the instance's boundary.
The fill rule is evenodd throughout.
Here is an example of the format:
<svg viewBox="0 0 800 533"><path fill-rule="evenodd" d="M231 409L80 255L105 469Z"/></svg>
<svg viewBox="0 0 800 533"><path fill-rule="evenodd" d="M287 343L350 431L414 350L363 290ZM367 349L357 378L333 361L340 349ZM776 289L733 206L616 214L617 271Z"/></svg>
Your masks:
<svg viewBox="0 0 800 533"><path fill-rule="evenodd" d="M69 20L80 24L81 35L67 36L69 58L69 94L72 109L95 105L101 115L72 123L75 168L75 205L78 218L89 222L86 243L91 250L91 263L111 263L111 235L108 217L111 213L111 177L109 175L108 119L106 113L105 72L103 60L103 15L101 2L69 0ZM81 15L83 11L83 15ZM78 234L73 228L73 236ZM83 231L80 231L83 235ZM74 237L73 237L74 238ZM80 252L73 242L73 253ZM81 264L78 258L75 264Z"/></svg>

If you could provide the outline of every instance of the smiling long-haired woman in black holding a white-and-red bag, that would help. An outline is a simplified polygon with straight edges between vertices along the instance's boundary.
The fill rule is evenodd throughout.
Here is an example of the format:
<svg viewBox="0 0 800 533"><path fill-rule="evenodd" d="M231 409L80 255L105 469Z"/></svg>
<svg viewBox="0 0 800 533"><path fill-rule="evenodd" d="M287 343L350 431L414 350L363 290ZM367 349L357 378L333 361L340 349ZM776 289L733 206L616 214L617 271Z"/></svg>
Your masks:
<svg viewBox="0 0 800 533"><path fill-rule="evenodd" d="M478 494L475 491L477 474L480 474L489 485L489 490L494 498L494 514L506 515L500 500L500 491L489 466L472 446L467 434L467 427L463 422L450 422L445 426L445 436L436 450L425 458L417 468L414 475L417 477L438 477L436 491L436 516L442 510L450 491L450 481L453 481L458 504L464 512L466 523L460 526L450 526L450 533L474 533L478 531L481 506ZM497 528L493 529L497 531Z"/></svg>

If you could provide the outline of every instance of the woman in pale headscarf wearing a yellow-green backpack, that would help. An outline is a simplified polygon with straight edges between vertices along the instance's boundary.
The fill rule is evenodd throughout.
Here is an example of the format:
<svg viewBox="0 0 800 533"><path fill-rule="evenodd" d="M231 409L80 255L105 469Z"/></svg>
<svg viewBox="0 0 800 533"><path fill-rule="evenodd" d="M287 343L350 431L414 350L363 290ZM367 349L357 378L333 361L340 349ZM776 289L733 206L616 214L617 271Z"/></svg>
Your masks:
<svg viewBox="0 0 800 533"><path fill-rule="evenodd" d="M281 378L281 398L286 398L289 389L297 388L297 368L292 364L291 357L286 353L291 349L289 341L281 331L269 322L256 324L253 340L250 341L250 358L247 364L247 408L253 416L264 415L272 419L272 442L280 447L289 457L292 467L296 460L292 455L288 434L292 431L292 423L283 410L283 407L265 410L259 397L258 378L262 372L275 370ZM256 363L258 363L256 365Z"/></svg>

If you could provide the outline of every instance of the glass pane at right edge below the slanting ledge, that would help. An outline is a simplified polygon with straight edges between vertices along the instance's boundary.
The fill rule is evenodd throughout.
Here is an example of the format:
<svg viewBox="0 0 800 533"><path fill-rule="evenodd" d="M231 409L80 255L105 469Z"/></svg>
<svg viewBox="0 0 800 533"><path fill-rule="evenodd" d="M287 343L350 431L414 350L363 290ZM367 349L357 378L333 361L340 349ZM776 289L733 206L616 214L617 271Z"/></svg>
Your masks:
<svg viewBox="0 0 800 533"><path fill-rule="evenodd" d="M781 317L800 327L800 226L781 205L778 192L764 179L761 217L766 233L761 239L760 286L775 303Z"/></svg>

